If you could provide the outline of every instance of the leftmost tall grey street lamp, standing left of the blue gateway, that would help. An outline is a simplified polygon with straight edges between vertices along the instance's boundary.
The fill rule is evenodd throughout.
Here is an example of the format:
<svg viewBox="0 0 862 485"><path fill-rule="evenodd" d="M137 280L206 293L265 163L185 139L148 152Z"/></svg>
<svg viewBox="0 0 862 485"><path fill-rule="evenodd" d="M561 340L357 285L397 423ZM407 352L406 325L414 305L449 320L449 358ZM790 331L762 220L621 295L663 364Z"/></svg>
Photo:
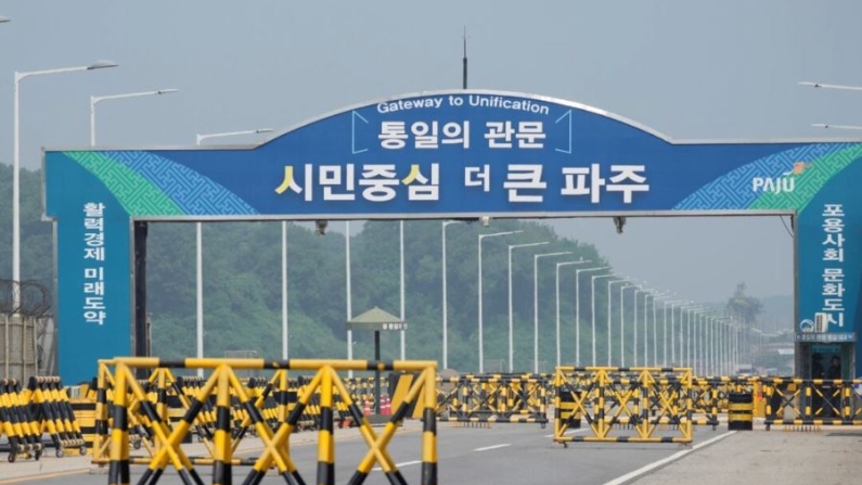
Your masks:
<svg viewBox="0 0 862 485"><path fill-rule="evenodd" d="M12 280L21 281L21 81L25 77L46 76L49 74L76 73L83 71L94 71L107 67L116 67L117 64L111 61L98 61L88 66L62 67L59 69L30 71L25 73L15 72L15 103L14 122L12 124ZM12 307L18 308L21 305L18 292L12 292Z"/></svg>

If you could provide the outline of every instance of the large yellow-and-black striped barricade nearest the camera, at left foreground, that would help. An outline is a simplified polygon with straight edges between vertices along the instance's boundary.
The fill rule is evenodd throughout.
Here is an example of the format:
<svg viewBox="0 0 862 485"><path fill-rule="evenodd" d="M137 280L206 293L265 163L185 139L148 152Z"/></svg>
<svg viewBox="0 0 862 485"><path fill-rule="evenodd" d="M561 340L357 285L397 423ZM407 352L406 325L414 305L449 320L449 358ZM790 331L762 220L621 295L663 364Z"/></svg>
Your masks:
<svg viewBox="0 0 862 485"><path fill-rule="evenodd" d="M214 483L230 483L235 467L252 467L245 483L258 483L270 468L275 468L288 483L305 483L292 459L290 437L297 429L297 423L307 408L312 406L317 396L317 414L319 416L319 442L317 483L333 484L335 482L334 454L334 416L336 410L335 396L339 396L350 417L358 423L359 432L369 445L369 451L357 467L350 483L362 483L375 464L391 483L407 483L386 447L404 419L408 408L416 406L422 410L422 484L437 483L437 439L436 439L436 362L433 361L364 361L364 360L282 360L265 361L263 359L185 359L162 360L157 358L116 358L103 361L100 366L99 387L107 390L113 382L111 403L111 435L103 454L93 455L93 462L108 465L108 483L128 484L129 467L132 463L146 464L139 483L154 484L170 464L179 473L183 483L203 483L195 471L195 464L213 467ZM113 375L110 368L113 367ZM134 369L167 368L204 368L209 375L189 398L189 407L182 418L171 423L147 397L144 386L134 379ZM286 392L286 371L314 371L314 375L300 387L296 404L286 413L283 404L288 399L280 394L275 400L278 410L276 426L265 417L263 404L267 396L262 393L248 392L236 376L236 370L274 370L285 375L273 376L270 381L278 393ZM385 427L379 432L372 429L362 410L350 396L338 371L414 371L419 379L408 390L404 400L393 413ZM162 388L163 384L158 384ZM120 392L125 390L126 392ZM107 394L107 393L105 393ZM215 432L209 457L192 457L182 448L182 442L189 434L193 423L204 412L205 403L215 397ZM99 400L99 399L97 399ZM107 423L106 403L97 404L97 429L99 423ZM243 412L235 412L242 408ZM129 429L133 421L146 424L153 432L153 446L146 446L147 456L131 456L129 447ZM239 422L237 422L239 421ZM237 426L252 425L262 442L263 451L257 458L237 459L234 451L239 439L248 438L245 433L232 433ZM97 436L97 447L101 437Z"/></svg>

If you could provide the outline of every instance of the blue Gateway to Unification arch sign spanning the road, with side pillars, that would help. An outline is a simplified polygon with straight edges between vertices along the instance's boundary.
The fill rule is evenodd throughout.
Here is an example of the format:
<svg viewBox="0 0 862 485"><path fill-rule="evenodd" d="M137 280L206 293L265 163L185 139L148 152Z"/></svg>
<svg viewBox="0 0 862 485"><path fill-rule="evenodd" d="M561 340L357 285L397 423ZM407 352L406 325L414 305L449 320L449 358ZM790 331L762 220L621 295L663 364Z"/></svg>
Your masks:
<svg viewBox="0 0 862 485"><path fill-rule="evenodd" d="M857 141L679 142L589 106L479 90L348 107L247 149L48 151L61 372L128 350L132 219L797 214L800 319L852 332L860 156ZM86 207L100 204L95 260Z"/></svg>

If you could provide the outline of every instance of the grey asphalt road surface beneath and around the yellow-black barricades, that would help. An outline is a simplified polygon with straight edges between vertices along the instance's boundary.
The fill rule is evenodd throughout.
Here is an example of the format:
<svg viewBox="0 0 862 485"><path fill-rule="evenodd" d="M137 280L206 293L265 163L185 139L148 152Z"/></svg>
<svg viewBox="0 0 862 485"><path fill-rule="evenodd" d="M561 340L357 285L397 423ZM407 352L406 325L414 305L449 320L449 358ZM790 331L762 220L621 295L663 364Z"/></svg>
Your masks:
<svg viewBox="0 0 862 485"><path fill-rule="evenodd" d="M670 457L693 446L679 444L631 444L631 443L570 443L568 448L554 444L551 429L540 429L536 424L493 424L491 427L454 427L438 424L438 474L441 484L605 484L632 471ZM582 432L580 432L582 433ZM695 445L725 433L722 429L712 431L702 427L695 435ZM316 483L317 446L311 438L313 433L300 433L303 443L292 444L294 462L306 483ZM400 430L388 446L393 459L398 464L408 483L421 483L421 433L417 429ZM357 464L368 451L365 443L356 431L336 433L335 482L346 483L353 474ZM259 455L259 449L248 449L245 457ZM39 483L65 485L69 483L97 485L107 483L106 474L89 474L79 460L78 470L51 468L51 462L72 460L57 459L49 450L41 459L38 470L57 472L53 475L30 475L2 480L2 469L27 465L25 463L3 463L0 465L0 485L13 483ZM69 461L69 467L72 462ZM30 463L36 467L36 463ZM46 467L48 465L48 467ZM89 467L87 467L89 468ZM196 468L205 483L211 483L207 467ZM137 483L144 467L132 465L131 483ZM242 483L249 469L234 468L233 482ZM265 484L284 483L283 478L270 475ZM10 476L7 474L5 476ZM181 481L169 468L159 484L180 484ZM368 484L388 483L382 472L373 472Z"/></svg>

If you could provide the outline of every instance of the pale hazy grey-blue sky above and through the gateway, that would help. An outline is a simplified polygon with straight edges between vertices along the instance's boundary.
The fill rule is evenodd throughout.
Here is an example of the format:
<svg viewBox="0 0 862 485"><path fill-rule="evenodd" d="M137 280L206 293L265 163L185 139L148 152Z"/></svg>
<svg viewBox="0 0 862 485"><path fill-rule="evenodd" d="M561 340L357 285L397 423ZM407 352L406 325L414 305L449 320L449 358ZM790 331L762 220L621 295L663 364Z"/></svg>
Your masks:
<svg viewBox="0 0 862 485"><path fill-rule="evenodd" d="M180 89L99 105L99 144L140 146L459 88L465 25L472 88L581 102L673 139L847 138L809 125L862 125L862 93L797 86L862 85L859 0L532 4L0 1L12 18L0 24L0 159L12 158L15 71L120 64L23 81L22 161L34 168L41 146L89 142L91 94ZM738 281L756 296L793 292L793 243L774 217L630 219L622 235L607 219L558 226L619 272L686 298L723 299Z"/></svg>

